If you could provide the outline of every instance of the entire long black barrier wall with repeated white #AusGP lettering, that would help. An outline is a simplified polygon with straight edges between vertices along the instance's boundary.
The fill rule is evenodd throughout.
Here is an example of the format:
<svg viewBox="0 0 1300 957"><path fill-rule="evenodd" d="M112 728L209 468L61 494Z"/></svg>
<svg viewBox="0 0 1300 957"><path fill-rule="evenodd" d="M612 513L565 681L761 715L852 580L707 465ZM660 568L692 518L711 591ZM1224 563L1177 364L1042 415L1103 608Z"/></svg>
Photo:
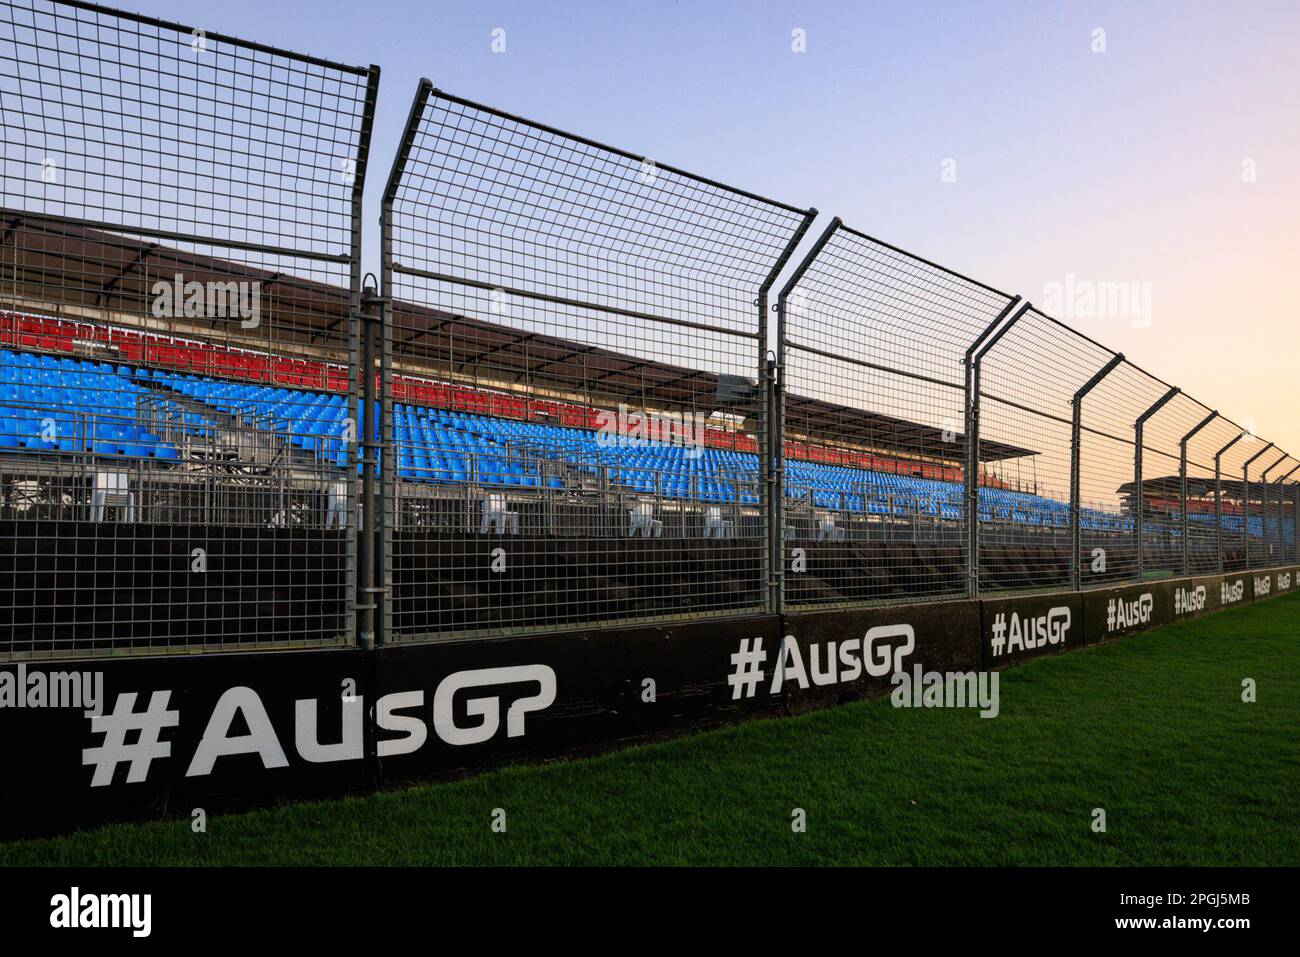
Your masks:
<svg viewBox="0 0 1300 957"><path fill-rule="evenodd" d="M17 771L0 779L0 837L337 797L829 707L1262 601L1297 572L370 653L10 664L0 761Z"/></svg>

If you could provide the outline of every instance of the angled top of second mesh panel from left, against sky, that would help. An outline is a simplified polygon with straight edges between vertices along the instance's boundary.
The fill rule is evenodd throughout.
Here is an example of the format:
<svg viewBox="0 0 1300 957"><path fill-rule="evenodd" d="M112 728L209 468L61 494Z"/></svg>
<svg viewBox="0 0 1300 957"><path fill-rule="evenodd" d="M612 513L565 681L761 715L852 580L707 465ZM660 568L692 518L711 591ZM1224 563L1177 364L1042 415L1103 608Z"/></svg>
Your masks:
<svg viewBox="0 0 1300 957"><path fill-rule="evenodd" d="M560 325L584 342L589 324L620 313L706 338L755 335L754 298L809 218L428 81L406 147L385 198L400 295L437 304L450 281L525 300L490 309L507 325L569 308ZM632 339L589 345L625 351ZM653 337L640 346L653 350Z"/></svg>

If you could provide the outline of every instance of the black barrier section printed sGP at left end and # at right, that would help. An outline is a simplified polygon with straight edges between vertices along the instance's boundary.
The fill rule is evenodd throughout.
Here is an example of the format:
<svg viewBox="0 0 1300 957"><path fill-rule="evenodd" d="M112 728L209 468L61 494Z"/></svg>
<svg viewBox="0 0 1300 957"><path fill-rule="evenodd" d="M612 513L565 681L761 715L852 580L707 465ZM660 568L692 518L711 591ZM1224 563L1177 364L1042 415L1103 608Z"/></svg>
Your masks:
<svg viewBox="0 0 1300 957"><path fill-rule="evenodd" d="M766 693L780 619L538 635L376 653L385 781L781 713Z"/></svg>

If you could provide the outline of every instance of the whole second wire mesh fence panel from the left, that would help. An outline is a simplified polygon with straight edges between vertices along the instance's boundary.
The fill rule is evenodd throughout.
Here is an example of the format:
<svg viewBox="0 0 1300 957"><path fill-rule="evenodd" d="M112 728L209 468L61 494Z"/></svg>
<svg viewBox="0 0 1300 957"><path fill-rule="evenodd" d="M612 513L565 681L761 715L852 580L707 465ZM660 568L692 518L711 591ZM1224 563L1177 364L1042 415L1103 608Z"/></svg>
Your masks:
<svg viewBox="0 0 1300 957"><path fill-rule="evenodd" d="M809 220L421 86L385 198L389 640L760 607L757 298Z"/></svg>

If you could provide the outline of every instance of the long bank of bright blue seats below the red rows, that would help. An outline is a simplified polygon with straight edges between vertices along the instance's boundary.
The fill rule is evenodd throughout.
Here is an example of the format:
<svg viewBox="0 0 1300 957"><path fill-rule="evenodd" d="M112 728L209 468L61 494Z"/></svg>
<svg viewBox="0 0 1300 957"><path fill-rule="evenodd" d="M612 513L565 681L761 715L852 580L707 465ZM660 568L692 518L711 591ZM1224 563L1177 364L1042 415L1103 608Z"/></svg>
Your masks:
<svg viewBox="0 0 1300 957"><path fill-rule="evenodd" d="M8 350L0 356L0 446L174 459L176 449L146 428L142 397L148 397L150 416L164 415L187 432L208 434L213 424L192 408L169 402L170 393L242 416L246 426L283 433L326 463L343 465L347 460L355 426L348 424L344 395ZM568 471L604 475L615 486L664 498L746 505L759 501L758 456L751 452L637 442L588 429L404 403L396 403L394 411L398 473L407 481L562 489L562 472ZM785 494L818 508L958 520L965 486L792 460L785 464ZM1070 525L1066 503L1009 489L980 488L979 515L983 521ZM1213 523L1213 515L1191 518ZM1240 532L1243 518L1225 515L1223 524ZM1126 532L1132 531L1132 519L1083 508L1080 525ZM1262 536L1262 519L1252 516L1249 531ZM1284 527L1270 525L1270 532L1294 534Z"/></svg>

